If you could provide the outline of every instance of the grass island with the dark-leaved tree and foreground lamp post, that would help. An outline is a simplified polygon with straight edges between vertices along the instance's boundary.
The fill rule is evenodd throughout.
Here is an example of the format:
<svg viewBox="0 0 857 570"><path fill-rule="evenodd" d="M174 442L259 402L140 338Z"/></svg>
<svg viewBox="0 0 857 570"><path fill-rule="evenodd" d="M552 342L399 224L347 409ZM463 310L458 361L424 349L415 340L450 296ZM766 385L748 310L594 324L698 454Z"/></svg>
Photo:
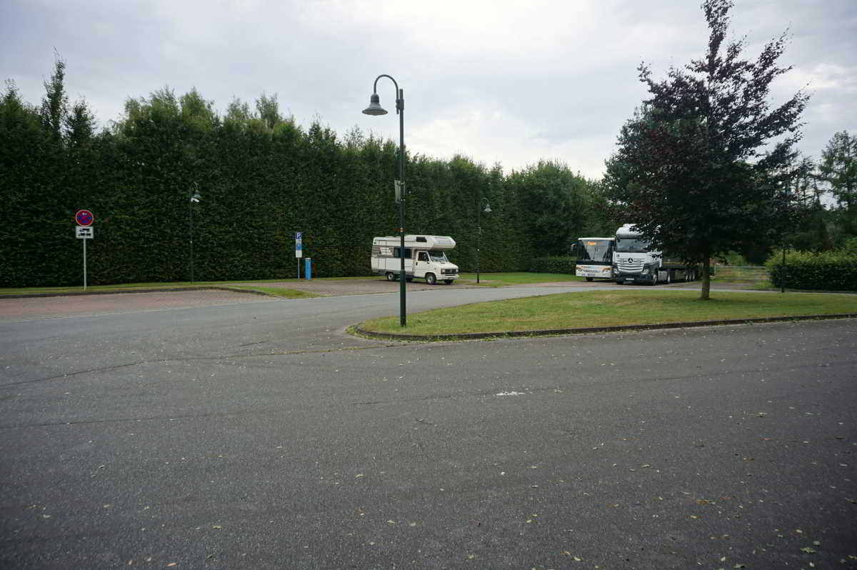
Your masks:
<svg viewBox="0 0 857 570"><path fill-rule="evenodd" d="M857 313L857 295L718 291L580 291L475 303L363 323L375 333L461 334Z"/></svg>

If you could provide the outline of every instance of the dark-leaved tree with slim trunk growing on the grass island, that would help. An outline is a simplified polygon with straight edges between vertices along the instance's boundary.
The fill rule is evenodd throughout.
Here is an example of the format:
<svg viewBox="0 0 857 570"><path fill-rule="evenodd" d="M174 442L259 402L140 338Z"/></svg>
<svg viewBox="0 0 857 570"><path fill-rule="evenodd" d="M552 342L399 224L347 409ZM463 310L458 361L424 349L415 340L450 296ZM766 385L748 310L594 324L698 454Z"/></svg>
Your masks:
<svg viewBox="0 0 857 570"><path fill-rule="evenodd" d="M710 297L710 259L770 240L794 213L794 143L808 96L771 108L770 84L790 68L777 60L786 36L756 61L741 57L745 39L724 45L730 0L706 0L710 28L704 58L639 78L650 99L621 129L607 161L605 189L617 214L658 249L703 264L701 299Z"/></svg>

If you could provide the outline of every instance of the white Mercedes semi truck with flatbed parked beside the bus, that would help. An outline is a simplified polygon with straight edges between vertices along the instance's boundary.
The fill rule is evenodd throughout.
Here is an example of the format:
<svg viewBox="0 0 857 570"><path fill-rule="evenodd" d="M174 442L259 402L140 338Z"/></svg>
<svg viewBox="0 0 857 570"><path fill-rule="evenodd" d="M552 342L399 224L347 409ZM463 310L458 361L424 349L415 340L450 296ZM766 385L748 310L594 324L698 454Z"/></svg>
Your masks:
<svg viewBox="0 0 857 570"><path fill-rule="evenodd" d="M668 284L675 280L693 281L698 270L684 261L651 249L649 239L633 224L626 224L616 231L616 246L613 253L613 280L617 284L647 283Z"/></svg>

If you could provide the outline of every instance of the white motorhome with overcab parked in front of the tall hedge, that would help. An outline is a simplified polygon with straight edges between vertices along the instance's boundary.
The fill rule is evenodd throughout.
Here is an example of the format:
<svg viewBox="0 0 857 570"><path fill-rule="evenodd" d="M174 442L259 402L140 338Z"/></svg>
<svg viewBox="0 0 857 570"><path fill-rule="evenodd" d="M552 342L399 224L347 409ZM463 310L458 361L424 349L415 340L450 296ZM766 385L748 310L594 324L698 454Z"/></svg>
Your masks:
<svg viewBox="0 0 857 570"><path fill-rule="evenodd" d="M399 279L402 270L401 237L375 237L372 240L372 273L387 276L387 281ZM452 285L458 279L458 266L446 259L446 252L455 247L448 236L405 236L405 279L425 279L428 285L442 280Z"/></svg>

